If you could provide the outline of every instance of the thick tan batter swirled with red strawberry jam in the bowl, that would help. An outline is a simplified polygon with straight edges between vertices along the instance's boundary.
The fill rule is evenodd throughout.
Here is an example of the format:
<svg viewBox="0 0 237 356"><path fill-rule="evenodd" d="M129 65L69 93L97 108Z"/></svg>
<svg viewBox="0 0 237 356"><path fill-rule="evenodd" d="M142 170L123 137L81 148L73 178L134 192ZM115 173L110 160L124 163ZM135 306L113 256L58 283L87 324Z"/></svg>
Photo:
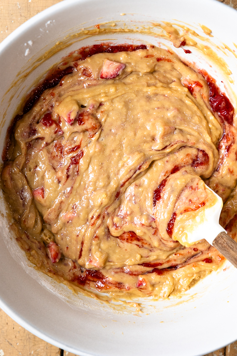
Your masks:
<svg viewBox="0 0 237 356"><path fill-rule="evenodd" d="M51 276L120 297L177 295L223 256L172 239L212 204L236 236L234 110L208 73L154 46L95 45L29 95L2 154L17 241Z"/></svg>

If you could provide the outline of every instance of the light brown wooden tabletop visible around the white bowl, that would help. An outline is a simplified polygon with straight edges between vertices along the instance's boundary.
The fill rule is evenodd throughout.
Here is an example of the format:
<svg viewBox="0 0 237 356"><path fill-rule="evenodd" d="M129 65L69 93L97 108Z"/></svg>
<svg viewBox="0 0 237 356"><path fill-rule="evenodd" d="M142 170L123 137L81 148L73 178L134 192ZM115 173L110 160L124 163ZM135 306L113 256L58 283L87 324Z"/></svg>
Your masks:
<svg viewBox="0 0 237 356"><path fill-rule="evenodd" d="M23 22L57 2L59 0L0 0L0 42ZM221 2L237 9L237 0ZM75 355L29 333L0 309L0 356ZM237 356L237 341L205 356Z"/></svg>

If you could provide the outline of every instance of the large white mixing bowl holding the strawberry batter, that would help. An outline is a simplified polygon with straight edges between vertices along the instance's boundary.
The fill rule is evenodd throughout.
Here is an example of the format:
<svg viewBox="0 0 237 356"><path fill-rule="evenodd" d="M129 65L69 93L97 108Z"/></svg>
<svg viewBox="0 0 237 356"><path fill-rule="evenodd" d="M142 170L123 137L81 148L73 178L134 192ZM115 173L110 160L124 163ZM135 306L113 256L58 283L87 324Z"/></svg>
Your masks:
<svg viewBox="0 0 237 356"><path fill-rule="evenodd" d="M126 15L121 17L121 13ZM65 0L17 28L0 45L0 151L9 122L35 80L71 50L111 40L111 35L76 41L37 66L37 58L57 41L98 22L172 19L206 25L214 40L231 48L232 42L237 43L237 12L215 0ZM117 43L132 39L157 43L145 35L118 34L113 38ZM234 59L230 56L227 62L237 80ZM21 78L32 67L34 70ZM237 339L234 267L227 264L225 271L211 273L181 299L144 303L144 313L133 308L114 309L96 299L75 296L35 271L11 237L4 201L0 203L4 214L0 220L0 307L41 339L81 356L198 356Z"/></svg>

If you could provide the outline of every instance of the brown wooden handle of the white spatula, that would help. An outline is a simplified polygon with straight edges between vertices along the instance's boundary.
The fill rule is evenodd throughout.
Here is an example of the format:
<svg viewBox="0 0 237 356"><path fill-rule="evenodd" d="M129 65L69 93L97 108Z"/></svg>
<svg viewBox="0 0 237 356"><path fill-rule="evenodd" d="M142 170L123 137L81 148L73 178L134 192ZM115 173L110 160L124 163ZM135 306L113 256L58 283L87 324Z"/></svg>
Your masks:
<svg viewBox="0 0 237 356"><path fill-rule="evenodd" d="M237 243L235 240L222 231L216 236L213 246L237 268Z"/></svg>

